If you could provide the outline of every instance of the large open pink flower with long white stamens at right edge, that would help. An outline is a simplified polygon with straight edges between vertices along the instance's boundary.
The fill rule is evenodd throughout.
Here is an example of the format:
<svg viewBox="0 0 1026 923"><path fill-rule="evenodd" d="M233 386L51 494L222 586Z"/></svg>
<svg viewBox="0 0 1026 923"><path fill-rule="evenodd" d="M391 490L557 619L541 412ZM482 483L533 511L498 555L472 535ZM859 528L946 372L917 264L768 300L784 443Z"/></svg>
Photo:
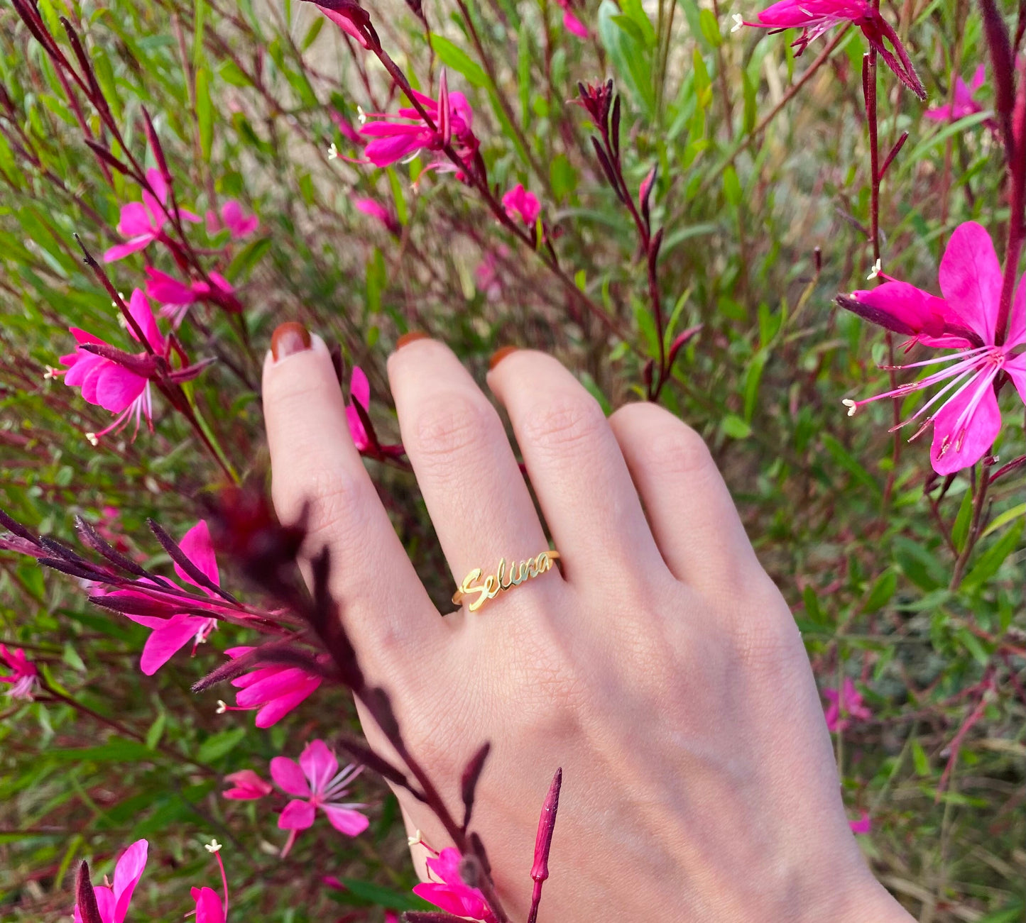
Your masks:
<svg viewBox="0 0 1026 923"><path fill-rule="evenodd" d="M845 400L849 415L881 398L904 397L945 383L907 420L922 417L916 438L931 423L934 441L930 460L947 475L976 464L990 449L1001 428L993 383L1002 370L1026 401L1026 355L1015 355L1026 343L1026 287L1020 278L1012 304L1009 335L995 343L1001 268L987 232L975 222L959 225L948 241L938 273L943 298L905 282L889 281L870 291L856 291L838 302L889 330L912 335L911 343L957 352L900 368L947 364L946 368L894 391L864 401ZM936 410L931 410L938 405ZM926 415L929 413L929 415Z"/></svg>

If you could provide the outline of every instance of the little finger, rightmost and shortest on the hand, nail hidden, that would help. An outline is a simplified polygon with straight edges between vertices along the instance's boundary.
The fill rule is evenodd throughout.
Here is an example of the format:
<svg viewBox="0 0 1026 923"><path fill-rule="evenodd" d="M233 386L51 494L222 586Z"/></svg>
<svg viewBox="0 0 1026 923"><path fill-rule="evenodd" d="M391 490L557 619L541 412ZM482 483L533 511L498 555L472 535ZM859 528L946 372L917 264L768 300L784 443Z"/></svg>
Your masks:
<svg viewBox="0 0 1026 923"><path fill-rule="evenodd" d="M705 441L669 410L628 404L609 417L644 503L656 544L677 579L737 587L758 568L729 491Z"/></svg>

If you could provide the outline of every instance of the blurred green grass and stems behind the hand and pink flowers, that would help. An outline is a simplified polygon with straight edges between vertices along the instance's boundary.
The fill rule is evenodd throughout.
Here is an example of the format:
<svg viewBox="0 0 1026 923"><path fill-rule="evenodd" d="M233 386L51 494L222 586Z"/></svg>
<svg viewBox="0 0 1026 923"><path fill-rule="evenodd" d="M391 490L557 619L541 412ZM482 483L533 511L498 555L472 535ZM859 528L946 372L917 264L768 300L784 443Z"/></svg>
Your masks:
<svg viewBox="0 0 1026 923"><path fill-rule="evenodd" d="M337 340L347 365L367 372L383 441L398 438L384 359L411 328L444 339L477 374L498 347L529 346L558 356L606 408L640 397L644 362L658 352L644 259L595 160L587 114L568 105L578 81L613 77L629 187L659 166L653 215L665 228L666 313L677 332L703 324L661 399L713 449L821 687L846 676L865 696L872 717L834 735L850 816L867 811L872 825L863 848L924 923L1021 920L1021 472L992 488L953 586L979 471L942 496L925 442L895 451L885 402L853 419L840 404L886 378L881 334L832 305L862 287L873 264L861 34L828 34L795 59L786 36L729 31L732 13L754 18L751 3L589 0L575 7L587 39L565 31L549 0L430 0L421 15L415 5L372 0L367 9L415 86L436 89L447 68L450 89L474 107L492 182L539 196L559 263L587 304L450 175L422 176L423 160L379 170L346 159L359 157L349 137L358 107L394 112L399 102L378 63L313 5L38 2L62 47L58 15L83 36L140 158L141 107L151 113L180 203L202 214L236 198L260 216L245 241L201 225L191 232L245 306L241 317L193 308L180 331L190 356L221 360L190 388L231 466L242 478L267 476L258 383L283 320ZM986 59L966 2L904 0L884 14L900 14L930 105ZM181 536L198 499L223 482L220 469L159 397L154 433L131 441L126 430L93 447L83 434L106 426L106 412L45 377L72 350L69 326L128 348L72 235L97 254L119 242L119 207L137 190L117 171L105 178L56 72L6 2L0 82L0 507L70 543L81 515L169 573L145 520ZM984 124L991 88L979 93L983 113L947 124L923 119L885 69L878 86L881 149L910 133L883 183L883 265L936 292L952 229L972 218L998 240L1008 213L999 144ZM94 114L83 118L104 139ZM329 156L331 145L342 156ZM358 211L357 197L388 208L398 233ZM173 271L166 254L153 255ZM144 266L140 254L114 264L112 279L127 292L142 286ZM996 451L1010 460L1026 437L1022 405L1005 392ZM412 477L368 464L442 603L446 568ZM224 567L222 583L245 593ZM182 653L148 678L137 669L145 636L90 607L75 580L0 551L0 642L24 648L66 696L0 698L0 919L69 918L78 860L110 873L144 836L151 860L131 919L180 919L191 884L215 884L202 849L211 836L226 844L234 919L380 921L385 907L412 907L401 820L373 780L356 792L372 805L367 834L350 840L320 824L285 860L273 813L219 795L226 773L266 774L272 756L330 739L354 720L345 697L322 688L259 730L246 713L215 714L224 693L189 691L222 661L219 651L251 637L215 632L194 659ZM348 888L325 887L324 875Z"/></svg>

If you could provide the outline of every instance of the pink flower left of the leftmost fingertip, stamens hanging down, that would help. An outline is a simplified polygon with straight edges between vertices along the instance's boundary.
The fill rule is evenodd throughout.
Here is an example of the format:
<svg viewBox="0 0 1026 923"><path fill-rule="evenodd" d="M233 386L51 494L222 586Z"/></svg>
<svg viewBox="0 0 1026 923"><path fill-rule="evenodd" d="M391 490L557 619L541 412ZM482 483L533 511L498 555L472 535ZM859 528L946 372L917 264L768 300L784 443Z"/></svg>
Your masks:
<svg viewBox="0 0 1026 923"><path fill-rule="evenodd" d="M155 353L162 353L164 351L164 337L157 328L150 303L146 299L142 289L136 288L132 291L128 300L128 312L139 324L151 349ZM149 379L120 362L81 349L82 346L88 344L103 347L109 345L98 336L93 336L78 327L70 329L78 348L74 353L61 357L61 363L68 366L65 373L65 385L81 388L82 397L90 404L95 404L97 407L103 407L105 410L117 414L114 422L106 429L98 433L86 433L89 442L96 445L102 436L106 436L112 431L119 432L132 417L135 418L133 439L139 435L139 427L144 416L152 432L153 400L150 395ZM128 327L128 332L133 339L139 339L131 326ZM140 353L137 355L140 358L145 358L147 354Z"/></svg>

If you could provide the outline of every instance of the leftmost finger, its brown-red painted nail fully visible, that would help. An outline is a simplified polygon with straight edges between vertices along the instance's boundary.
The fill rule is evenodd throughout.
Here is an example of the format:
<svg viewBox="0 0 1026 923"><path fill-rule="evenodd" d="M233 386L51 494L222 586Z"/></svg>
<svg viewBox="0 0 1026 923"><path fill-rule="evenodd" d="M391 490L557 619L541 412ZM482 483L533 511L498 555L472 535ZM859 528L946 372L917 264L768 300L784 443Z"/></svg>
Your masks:
<svg viewBox="0 0 1026 923"><path fill-rule="evenodd" d="M423 659L448 629L353 445L327 348L299 324L278 327L272 345L263 397L278 516L294 521L311 505L305 549L329 548L331 591L361 653L381 666L410 651Z"/></svg>

